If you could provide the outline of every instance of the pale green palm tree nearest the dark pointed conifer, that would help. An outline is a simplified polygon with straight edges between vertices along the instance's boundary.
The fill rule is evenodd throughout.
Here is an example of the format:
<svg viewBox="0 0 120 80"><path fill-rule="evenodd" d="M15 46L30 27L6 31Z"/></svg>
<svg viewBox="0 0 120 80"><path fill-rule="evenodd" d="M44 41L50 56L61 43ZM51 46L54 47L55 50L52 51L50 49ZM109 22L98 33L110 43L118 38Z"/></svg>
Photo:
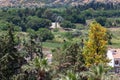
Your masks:
<svg viewBox="0 0 120 80"><path fill-rule="evenodd" d="M29 61L28 64L22 66L22 70L28 72L29 75L34 74L32 76L36 77L36 79L42 78L44 80L49 80L49 75L47 75L47 73L49 73L50 64L48 64L45 58L41 59L39 56L36 56L32 61Z"/></svg>

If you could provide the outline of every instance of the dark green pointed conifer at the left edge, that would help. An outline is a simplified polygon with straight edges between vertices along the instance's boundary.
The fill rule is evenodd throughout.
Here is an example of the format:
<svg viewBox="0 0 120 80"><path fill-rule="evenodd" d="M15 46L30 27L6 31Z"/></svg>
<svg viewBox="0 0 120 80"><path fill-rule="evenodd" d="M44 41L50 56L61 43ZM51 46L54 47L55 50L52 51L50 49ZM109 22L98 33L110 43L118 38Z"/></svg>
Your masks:
<svg viewBox="0 0 120 80"><path fill-rule="evenodd" d="M0 37L0 80L10 80L17 74L22 60L15 48L13 28L9 26L8 33Z"/></svg>

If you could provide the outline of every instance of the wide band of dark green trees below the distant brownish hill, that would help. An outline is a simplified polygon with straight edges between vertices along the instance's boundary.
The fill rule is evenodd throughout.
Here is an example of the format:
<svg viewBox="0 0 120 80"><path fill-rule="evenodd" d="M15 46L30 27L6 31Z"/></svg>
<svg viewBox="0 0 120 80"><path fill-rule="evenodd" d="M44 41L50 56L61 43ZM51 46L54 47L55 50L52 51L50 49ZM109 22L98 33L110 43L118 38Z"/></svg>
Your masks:
<svg viewBox="0 0 120 80"><path fill-rule="evenodd" d="M87 6L87 5L86 5ZM100 18L101 17L101 18ZM27 31L31 28L48 28L52 22L59 22L64 28L76 28L74 24L86 25L86 20L95 19L102 26L119 26L120 10L94 9L81 10L78 7L69 7L63 10L51 8L2 8L0 10L0 29L6 30L7 24L14 25L16 30ZM111 18L111 19L108 19ZM69 25L68 25L69 24Z"/></svg>

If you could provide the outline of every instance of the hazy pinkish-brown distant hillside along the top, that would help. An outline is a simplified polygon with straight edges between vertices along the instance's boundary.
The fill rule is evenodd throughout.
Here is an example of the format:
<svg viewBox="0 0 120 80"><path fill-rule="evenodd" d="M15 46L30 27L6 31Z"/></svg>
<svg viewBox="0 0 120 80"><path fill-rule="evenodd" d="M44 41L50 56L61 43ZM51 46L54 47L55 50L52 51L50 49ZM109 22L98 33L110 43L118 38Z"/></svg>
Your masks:
<svg viewBox="0 0 120 80"><path fill-rule="evenodd" d="M52 6L52 5L84 5L91 2L120 3L120 0L0 0L0 7L5 6Z"/></svg>

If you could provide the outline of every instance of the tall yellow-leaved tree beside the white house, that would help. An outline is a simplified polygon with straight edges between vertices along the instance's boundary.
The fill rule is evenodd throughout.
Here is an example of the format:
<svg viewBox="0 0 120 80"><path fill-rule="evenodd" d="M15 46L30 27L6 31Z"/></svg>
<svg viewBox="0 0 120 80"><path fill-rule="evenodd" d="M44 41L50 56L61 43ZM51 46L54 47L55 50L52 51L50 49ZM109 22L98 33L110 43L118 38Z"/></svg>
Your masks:
<svg viewBox="0 0 120 80"><path fill-rule="evenodd" d="M107 30L97 22L90 24L89 38L85 43L84 57L86 66L106 63Z"/></svg>

